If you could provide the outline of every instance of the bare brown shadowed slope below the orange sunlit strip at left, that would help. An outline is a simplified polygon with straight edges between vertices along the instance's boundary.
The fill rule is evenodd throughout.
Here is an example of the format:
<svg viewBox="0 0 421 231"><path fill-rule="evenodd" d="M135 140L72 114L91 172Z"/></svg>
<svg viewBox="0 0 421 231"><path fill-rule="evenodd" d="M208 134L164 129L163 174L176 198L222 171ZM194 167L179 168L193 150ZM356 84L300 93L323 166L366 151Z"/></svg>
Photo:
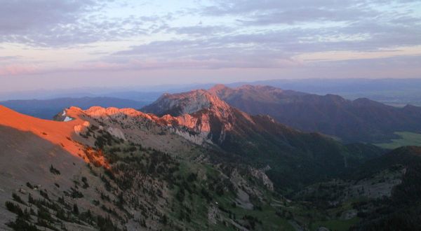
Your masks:
<svg viewBox="0 0 421 231"><path fill-rule="evenodd" d="M86 165L79 156L75 157L62 146L32 132L0 125L0 147L1 206L9 200L11 192L25 188L27 182L36 183L40 190L59 193L74 186L74 176L83 172L83 169L86 171ZM51 166L58 169L60 174L51 174ZM54 183L60 183L60 189ZM27 194L27 189L22 189L21 193ZM1 221L13 221L14 216L0 209L0 217ZM8 230L4 222L0 222L0 230Z"/></svg>

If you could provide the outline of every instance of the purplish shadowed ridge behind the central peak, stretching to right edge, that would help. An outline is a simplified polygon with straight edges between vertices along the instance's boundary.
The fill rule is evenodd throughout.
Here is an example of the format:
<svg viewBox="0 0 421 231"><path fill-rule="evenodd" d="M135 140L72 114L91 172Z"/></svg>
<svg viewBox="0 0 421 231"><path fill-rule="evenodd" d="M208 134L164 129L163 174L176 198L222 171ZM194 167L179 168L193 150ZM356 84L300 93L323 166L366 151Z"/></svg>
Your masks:
<svg viewBox="0 0 421 231"><path fill-rule="evenodd" d="M394 132L421 132L421 107L388 106L370 99L344 99L335 94L307 94L271 86L215 85L210 92L252 115L269 115L306 132L321 132L346 142L385 142Z"/></svg>

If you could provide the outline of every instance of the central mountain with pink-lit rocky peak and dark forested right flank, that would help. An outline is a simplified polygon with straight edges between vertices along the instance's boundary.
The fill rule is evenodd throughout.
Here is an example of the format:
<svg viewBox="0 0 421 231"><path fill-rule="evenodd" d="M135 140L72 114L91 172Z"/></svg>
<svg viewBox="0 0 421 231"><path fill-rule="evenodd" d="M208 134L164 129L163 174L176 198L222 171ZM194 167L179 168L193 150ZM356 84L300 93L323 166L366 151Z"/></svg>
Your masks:
<svg viewBox="0 0 421 231"><path fill-rule="evenodd" d="M281 125L269 116L250 116L206 90L164 94L142 111L187 116L186 121L196 125L196 135L217 144L233 158L270 169L267 174L284 190L337 176L382 153L380 148L364 145L361 149L370 152L355 151L322 134Z"/></svg>

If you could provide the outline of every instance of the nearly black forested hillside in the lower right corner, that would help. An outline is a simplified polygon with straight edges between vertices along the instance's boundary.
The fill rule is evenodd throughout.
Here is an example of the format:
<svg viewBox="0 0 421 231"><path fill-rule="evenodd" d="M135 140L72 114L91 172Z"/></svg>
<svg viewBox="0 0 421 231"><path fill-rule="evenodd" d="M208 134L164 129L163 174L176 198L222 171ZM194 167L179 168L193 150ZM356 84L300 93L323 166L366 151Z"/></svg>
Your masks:
<svg viewBox="0 0 421 231"><path fill-rule="evenodd" d="M356 228L377 230L420 230L421 228L421 148L406 146L396 148L381 158L368 162L363 169L392 169L401 167L404 175L394 187L392 196L380 202L361 204L363 221ZM378 211L379 214L374 214Z"/></svg>

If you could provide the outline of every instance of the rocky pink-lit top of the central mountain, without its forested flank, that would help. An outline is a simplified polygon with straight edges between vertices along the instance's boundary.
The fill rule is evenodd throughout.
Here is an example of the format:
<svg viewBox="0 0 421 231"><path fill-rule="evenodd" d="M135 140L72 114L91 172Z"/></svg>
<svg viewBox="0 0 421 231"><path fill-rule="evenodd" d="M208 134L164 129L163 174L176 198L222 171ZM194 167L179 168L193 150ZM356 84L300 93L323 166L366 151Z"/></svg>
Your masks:
<svg viewBox="0 0 421 231"><path fill-rule="evenodd" d="M141 111L161 116L159 120L164 124L187 127L217 144L224 141L225 134L233 130L237 120L254 123L246 113L232 108L207 90L165 95Z"/></svg>

